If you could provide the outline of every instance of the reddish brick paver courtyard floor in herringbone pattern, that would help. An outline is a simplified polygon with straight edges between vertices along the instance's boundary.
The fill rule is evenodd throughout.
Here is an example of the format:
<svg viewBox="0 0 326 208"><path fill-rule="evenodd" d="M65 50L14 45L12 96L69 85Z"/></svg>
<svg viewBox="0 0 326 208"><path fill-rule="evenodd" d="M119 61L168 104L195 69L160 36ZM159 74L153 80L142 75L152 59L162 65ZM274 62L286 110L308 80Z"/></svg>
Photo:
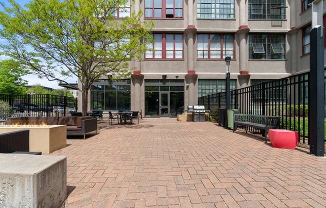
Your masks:
<svg viewBox="0 0 326 208"><path fill-rule="evenodd" d="M325 207L326 158L212 122L142 119L68 139L67 207ZM261 137L262 138L262 137Z"/></svg>

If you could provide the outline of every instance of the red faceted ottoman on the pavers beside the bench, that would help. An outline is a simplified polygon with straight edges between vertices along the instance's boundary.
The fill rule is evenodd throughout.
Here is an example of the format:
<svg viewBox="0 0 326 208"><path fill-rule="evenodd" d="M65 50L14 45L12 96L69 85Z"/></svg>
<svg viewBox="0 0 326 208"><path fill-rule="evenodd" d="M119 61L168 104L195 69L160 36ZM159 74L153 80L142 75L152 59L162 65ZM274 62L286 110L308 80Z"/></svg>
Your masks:
<svg viewBox="0 0 326 208"><path fill-rule="evenodd" d="M268 137L273 147L295 149L299 139L299 133L292 130L269 129Z"/></svg>

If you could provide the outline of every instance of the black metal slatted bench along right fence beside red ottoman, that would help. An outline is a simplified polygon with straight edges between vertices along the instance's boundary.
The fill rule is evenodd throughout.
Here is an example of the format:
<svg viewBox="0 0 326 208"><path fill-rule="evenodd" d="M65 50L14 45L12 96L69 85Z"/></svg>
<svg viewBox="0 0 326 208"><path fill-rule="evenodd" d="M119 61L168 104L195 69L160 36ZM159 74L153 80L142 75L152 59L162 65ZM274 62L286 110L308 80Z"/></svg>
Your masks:
<svg viewBox="0 0 326 208"><path fill-rule="evenodd" d="M234 114L233 132L237 125L245 127L253 127L261 130L262 135L265 134L265 143L267 142L268 129L278 128L279 117L267 115L251 115L251 114Z"/></svg>

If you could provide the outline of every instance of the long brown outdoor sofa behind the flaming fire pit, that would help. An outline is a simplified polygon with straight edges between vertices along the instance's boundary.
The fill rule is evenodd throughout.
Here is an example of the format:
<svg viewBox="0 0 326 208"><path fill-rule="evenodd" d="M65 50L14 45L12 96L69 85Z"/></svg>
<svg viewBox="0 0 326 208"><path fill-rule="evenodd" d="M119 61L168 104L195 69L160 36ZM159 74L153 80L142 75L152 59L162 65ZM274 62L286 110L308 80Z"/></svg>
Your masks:
<svg viewBox="0 0 326 208"><path fill-rule="evenodd" d="M97 119L92 116L61 116L61 117L41 117L41 116L26 116L26 117L8 117L7 124L41 124L47 125L66 125L67 135L83 135L96 131L97 134Z"/></svg>

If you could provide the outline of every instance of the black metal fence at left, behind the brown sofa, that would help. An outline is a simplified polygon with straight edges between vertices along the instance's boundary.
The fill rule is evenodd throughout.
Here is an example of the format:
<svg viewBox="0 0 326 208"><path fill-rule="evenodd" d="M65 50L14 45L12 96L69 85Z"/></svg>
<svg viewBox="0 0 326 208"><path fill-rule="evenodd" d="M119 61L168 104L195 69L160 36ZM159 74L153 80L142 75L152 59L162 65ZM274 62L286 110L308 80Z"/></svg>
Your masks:
<svg viewBox="0 0 326 208"><path fill-rule="evenodd" d="M0 114L12 116L65 116L77 108L77 98L52 94L0 94L0 101Z"/></svg>

